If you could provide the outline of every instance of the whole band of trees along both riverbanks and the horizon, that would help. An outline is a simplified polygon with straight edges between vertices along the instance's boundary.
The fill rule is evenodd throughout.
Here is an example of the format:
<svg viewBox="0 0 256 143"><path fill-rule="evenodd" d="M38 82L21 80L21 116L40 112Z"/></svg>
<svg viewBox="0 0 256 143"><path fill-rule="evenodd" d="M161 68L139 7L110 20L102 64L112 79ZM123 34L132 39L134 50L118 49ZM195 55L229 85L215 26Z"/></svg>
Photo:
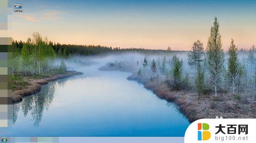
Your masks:
<svg viewBox="0 0 256 143"><path fill-rule="evenodd" d="M195 70L194 81L198 94L213 89L215 96L218 90L224 87L232 87L232 93L248 88L248 84L256 86L255 47L240 48L233 39L230 40L228 59L225 60L225 52L222 47L219 22L215 17L214 24L210 29L207 46L204 49L200 40L197 40L188 52L188 65ZM141 53L172 53L186 52L167 50L143 49L143 48L112 48L94 45L71 45L59 44L42 38L38 33L26 42L13 41L13 74L17 75L40 75L65 72L67 70L65 59L72 55L96 55L101 53L141 52ZM248 53L246 62L241 62L239 53ZM152 73L165 74L169 85L174 90L182 90L189 87L189 75L183 71L183 60L174 55L169 60L164 56L162 59L153 59L148 62L146 58L141 62L138 74L143 74L144 69ZM120 65L119 65L120 66ZM139 62L137 61L139 67ZM148 68L147 68L148 67ZM247 69L246 67L250 67ZM249 72L248 72L249 70ZM249 74L250 73L250 74ZM152 78L152 77L151 77Z"/></svg>

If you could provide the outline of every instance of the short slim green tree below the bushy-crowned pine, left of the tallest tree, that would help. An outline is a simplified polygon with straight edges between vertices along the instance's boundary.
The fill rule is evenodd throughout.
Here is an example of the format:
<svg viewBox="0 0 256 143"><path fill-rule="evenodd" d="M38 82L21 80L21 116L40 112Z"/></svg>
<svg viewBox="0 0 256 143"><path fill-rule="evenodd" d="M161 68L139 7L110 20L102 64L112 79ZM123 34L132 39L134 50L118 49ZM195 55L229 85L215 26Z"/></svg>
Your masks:
<svg viewBox="0 0 256 143"><path fill-rule="evenodd" d="M196 91L198 95L200 96L203 91L204 86L204 72L201 69L201 65L197 65L197 76L196 76Z"/></svg>

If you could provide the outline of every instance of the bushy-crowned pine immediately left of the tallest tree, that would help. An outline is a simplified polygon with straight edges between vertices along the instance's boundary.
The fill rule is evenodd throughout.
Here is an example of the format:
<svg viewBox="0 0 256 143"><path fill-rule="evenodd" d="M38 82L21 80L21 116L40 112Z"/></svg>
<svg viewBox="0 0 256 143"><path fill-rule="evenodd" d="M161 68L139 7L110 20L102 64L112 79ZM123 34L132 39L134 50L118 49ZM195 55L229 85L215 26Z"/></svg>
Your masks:
<svg viewBox="0 0 256 143"><path fill-rule="evenodd" d="M194 42L191 50L188 52L188 65L195 66L195 70L197 69L197 64L201 64L203 61L204 48L203 43L200 40Z"/></svg>

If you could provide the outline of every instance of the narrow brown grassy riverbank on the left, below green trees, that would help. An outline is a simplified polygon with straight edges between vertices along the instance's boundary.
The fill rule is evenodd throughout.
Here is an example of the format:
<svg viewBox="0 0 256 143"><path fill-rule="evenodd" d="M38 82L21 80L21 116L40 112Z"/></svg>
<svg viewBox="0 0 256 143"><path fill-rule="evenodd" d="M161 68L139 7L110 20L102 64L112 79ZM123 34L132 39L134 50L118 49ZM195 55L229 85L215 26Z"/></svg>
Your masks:
<svg viewBox="0 0 256 143"><path fill-rule="evenodd" d="M57 80L60 78L71 77L74 75L80 75L81 72L76 71L67 71L62 74L55 74L49 76L40 76L40 77L30 77L22 76L22 82L17 82L13 80L13 90L12 90L12 102L17 103L22 101L23 97L35 94L41 90L41 86L47 84L49 81Z"/></svg>

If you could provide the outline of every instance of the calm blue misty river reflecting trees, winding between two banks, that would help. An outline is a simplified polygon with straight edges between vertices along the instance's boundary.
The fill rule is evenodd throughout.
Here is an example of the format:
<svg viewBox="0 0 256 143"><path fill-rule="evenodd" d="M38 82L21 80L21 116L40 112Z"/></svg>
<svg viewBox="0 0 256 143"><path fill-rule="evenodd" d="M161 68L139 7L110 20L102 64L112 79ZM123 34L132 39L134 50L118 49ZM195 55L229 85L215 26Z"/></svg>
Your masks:
<svg viewBox="0 0 256 143"><path fill-rule="evenodd" d="M77 66L83 72L49 82L13 106L6 136L184 136L190 124L131 73ZM84 68L86 67L86 68Z"/></svg>

